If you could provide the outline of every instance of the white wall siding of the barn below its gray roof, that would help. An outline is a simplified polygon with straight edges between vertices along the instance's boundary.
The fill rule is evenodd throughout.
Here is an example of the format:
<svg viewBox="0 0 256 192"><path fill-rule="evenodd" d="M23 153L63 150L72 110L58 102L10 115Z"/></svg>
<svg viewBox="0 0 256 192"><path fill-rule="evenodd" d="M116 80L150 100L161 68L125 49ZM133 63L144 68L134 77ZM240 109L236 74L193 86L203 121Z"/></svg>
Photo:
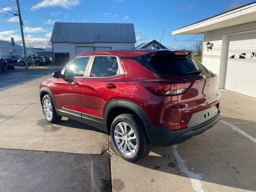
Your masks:
<svg viewBox="0 0 256 192"><path fill-rule="evenodd" d="M52 43L54 53L70 53L70 59L76 56L76 46L111 47L112 50L133 49L135 43Z"/></svg>

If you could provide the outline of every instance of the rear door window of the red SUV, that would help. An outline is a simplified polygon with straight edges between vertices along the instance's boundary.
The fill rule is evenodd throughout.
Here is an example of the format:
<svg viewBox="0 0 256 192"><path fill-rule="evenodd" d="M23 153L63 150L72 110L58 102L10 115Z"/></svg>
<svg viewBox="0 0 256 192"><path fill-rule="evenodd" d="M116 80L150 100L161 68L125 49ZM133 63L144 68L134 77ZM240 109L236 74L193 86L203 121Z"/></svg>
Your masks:
<svg viewBox="0 0 256 192"><path fill-rule="evenodd" d="M116 56L96 56L90 77L110 77L120 74Z"/></svg>

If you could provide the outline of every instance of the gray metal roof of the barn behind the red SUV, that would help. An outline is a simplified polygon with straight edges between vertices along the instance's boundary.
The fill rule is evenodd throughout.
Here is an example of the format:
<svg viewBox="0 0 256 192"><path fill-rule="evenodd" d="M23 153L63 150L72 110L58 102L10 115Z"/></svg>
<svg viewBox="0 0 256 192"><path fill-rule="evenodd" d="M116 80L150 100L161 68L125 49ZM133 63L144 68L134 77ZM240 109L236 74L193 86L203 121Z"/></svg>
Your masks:
<svg viewBox="0 0 256 192"><path fill-rule="evenodd" d="M133 24L55 22L51 42L136 43Z"/></svg>

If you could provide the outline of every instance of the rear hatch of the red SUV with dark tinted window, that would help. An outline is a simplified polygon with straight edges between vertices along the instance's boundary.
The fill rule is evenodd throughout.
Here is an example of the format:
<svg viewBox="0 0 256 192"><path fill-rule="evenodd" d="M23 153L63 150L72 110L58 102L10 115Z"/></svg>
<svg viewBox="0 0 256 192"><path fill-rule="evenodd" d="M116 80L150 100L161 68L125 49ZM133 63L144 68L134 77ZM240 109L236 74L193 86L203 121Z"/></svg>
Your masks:
<svg viewBox="0 0 256 192"><path fill-rule="evenodd" d="M188 85L186 91L178 95L178 104L184 116L211 108L220 99L217 76L192 55L193 52L190 51L158 51L145 54L151 70L177 85Z"/></svg>

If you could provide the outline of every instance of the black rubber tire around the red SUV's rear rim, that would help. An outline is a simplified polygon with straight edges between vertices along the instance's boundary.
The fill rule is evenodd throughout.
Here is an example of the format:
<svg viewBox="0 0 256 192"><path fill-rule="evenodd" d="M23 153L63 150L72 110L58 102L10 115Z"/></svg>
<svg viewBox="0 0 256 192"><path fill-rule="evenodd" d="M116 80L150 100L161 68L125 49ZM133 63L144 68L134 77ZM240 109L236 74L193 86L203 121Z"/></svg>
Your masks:
<svg viewBox="0 0 256 192"><path fill-rule="evenodd" d="M134 134L136 135L136 150L134 154L126 155L123 152L121 152L115 142L114 138L114 131L116 126L120 123L124 122L128 124L133 130ZM145 128L139 118L137 118L135 115L132 114L120 114L118 115L112 122L111 130L110 130L113 146L116 150L116 152L126 161L129 162L135 162L138 161L145 156L147 156L150 152L151 143L150 140L146 134ZM127 139L127 138L126 138Z"/></svg>

